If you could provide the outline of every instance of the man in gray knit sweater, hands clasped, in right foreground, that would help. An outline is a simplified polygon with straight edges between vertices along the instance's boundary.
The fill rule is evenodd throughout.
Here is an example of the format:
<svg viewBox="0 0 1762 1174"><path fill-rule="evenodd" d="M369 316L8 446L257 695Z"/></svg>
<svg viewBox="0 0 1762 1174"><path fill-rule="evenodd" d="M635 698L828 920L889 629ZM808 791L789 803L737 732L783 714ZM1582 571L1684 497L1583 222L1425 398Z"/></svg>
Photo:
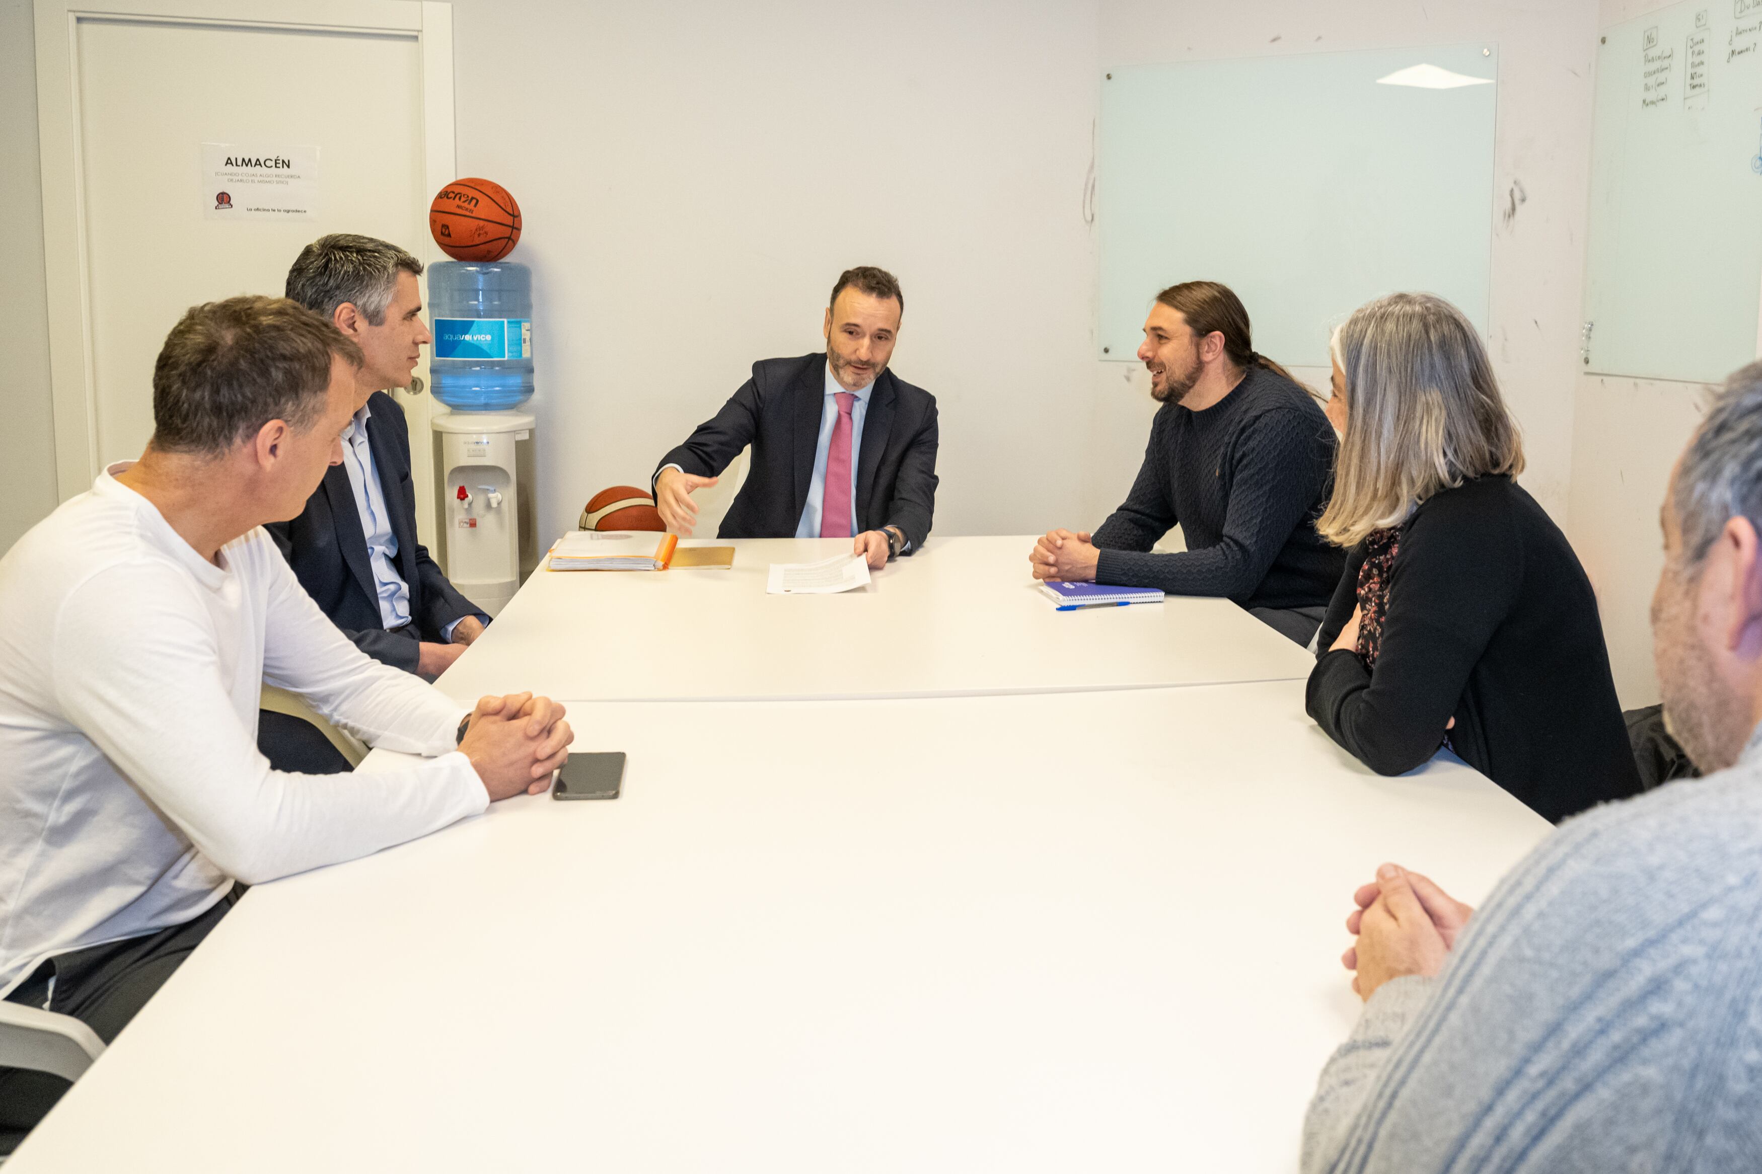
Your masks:
<svg viewBox="0 0 1762 1174"><path fill-rule="evenodd" d="M1762 363L1662 523L1658 679L1707 778L1561 824L1478 912L1381 866L1306 1172L1762 1169Z"/></svg>

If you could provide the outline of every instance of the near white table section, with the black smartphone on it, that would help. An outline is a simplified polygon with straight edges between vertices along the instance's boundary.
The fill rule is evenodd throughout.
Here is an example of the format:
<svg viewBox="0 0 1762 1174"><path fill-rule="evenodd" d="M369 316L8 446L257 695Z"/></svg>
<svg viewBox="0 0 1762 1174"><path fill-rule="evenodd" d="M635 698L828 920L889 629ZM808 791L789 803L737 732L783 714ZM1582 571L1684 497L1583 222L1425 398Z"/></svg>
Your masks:
<svg viewBox="0 0 1762 1174"><path fill-rule="evenodd" d="M259 885L7 1174L1292 1170L1353 887L1547 831L1300 681L571 709L622 799Z"/></svg>

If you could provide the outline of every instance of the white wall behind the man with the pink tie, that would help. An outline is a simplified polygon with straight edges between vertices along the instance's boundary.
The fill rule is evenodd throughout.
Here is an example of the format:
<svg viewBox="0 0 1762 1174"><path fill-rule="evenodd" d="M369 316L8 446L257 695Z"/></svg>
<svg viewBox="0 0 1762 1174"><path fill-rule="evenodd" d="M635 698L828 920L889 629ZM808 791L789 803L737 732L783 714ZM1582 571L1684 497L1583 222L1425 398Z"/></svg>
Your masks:
<svg viewBox="0 0 1762 1174"><path fill-rule="evenodd" d="M453 9L460 171L525 216L546 533L645 486L756 359L821 350L851 264L906 292L893 370L941 408L937 533L1071 514L1094 4Z"/></svg>

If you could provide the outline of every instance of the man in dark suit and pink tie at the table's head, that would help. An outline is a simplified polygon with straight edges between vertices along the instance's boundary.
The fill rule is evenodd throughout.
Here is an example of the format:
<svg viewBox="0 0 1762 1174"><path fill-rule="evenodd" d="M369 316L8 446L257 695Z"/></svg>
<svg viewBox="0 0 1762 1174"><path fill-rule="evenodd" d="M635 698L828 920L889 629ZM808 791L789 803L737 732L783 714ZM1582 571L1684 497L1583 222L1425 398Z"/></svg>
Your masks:
<svg viewBox="0 0 1762 1174"><path fill-rule="evenodd" d="M691 491L714 486L752 445L724 539L855 539L881 569L930 533L936 509L936 396L886 370L906 301L885 269L846 269L826 306L825 354L763 359L655 470L655 507L689 535Z"/></svg>

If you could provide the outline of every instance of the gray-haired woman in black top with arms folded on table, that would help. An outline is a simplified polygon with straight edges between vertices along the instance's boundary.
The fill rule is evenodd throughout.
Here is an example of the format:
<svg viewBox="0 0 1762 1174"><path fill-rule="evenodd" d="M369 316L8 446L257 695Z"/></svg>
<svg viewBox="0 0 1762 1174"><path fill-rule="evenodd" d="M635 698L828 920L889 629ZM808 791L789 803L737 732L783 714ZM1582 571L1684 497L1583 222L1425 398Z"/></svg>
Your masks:
<svg viewBox="0 0 1762 1174"><path fill-rule="evenodd" d="M1350 553L1309 715L1380 774L1448 746L1554 822L1637 794L1591 583L1514 481L1522 442L1468 319L1429 294L1359 308L1334 394L1316 530Z"/></svg>

